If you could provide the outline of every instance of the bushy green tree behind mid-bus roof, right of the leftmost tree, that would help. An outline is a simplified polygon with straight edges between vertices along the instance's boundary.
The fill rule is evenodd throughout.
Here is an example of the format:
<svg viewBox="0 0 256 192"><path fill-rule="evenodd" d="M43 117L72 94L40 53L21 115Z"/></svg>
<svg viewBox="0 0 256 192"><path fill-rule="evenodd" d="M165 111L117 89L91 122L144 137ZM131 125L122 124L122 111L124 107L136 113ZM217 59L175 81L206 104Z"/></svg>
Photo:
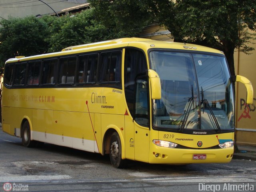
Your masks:
<svg viewBox="0 0 256 192"><path fill-rule="evenodd" d="M51 21L50 32L51 35L47 38L50 45L49 52L116 37L110 28L96 22L93 9L84 10L73 16L62 16Z"/></svg>

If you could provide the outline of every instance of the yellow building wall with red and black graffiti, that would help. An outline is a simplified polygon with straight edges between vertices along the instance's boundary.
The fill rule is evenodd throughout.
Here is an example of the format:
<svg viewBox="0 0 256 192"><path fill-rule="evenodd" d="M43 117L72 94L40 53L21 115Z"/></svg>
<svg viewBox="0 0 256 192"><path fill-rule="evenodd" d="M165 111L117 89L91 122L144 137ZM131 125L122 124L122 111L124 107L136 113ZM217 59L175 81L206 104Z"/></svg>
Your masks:
<svg viewBox="0 0 256 192"><path fill-rule="evenodd" d="M250 44L256 49L256 44ZM236 140L240 145L256 146L256 50L244 54L237 50L234 54L236 74L245 76L254 88L253 104L246 104L246 88L236 83Z"/></svg>

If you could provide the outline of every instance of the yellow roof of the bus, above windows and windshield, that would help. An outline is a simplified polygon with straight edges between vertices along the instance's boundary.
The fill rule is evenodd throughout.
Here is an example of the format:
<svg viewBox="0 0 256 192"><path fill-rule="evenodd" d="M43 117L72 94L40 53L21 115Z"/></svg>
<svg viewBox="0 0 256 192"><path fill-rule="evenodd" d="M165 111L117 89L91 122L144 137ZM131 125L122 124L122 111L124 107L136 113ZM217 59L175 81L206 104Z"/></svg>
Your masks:
<svg viewBox="0 0 256 192"><path fill-rule="evenodd" d="M219 50L208 48L205 46L194 45L194 44L157 41L157 40L151 40L146 38L120 38L120 39L107 40L102 42L82 44L77 46L70 46L70 47L64 48L61 52L41 54L41 55L29 56L29 57L22 56L22 57L10 58L6 61L6 63L27 61L27 60L40 59L40 58L41 59L50 58L53 56L65 56L69 54L104 50L104 49L110 49L110 48L127 47L127 46L142 48L145 51L150 48L169 48L169 49L177 49L177 50L194 50L194 51L223 54L223 52Z"/></svg>

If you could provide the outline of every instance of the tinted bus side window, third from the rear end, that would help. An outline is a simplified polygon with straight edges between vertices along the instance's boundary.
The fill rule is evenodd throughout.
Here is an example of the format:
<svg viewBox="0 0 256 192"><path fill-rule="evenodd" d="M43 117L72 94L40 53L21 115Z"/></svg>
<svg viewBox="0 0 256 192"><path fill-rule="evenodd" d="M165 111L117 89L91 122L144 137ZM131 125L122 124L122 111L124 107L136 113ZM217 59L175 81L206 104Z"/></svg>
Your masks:
<svg viewBox="0 0 256 192"><path fill-rule="evenodd" d="M41 61L28 63L28 79L27 79L28 85L39 84L40 68L41 68Z"/></svg>

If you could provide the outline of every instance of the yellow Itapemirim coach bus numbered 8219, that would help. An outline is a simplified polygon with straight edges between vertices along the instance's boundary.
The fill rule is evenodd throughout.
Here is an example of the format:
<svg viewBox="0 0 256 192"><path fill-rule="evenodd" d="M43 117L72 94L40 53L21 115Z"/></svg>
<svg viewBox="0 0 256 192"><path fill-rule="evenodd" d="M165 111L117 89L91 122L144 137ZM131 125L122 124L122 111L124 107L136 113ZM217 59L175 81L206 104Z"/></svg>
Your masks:
<svg viewBox="0 0 256 192"><path fill-rule="evenodd" d="M223 52L121 38L6 61L2 129L43 142L153 164L226 163L234 88Z"/></svg>

